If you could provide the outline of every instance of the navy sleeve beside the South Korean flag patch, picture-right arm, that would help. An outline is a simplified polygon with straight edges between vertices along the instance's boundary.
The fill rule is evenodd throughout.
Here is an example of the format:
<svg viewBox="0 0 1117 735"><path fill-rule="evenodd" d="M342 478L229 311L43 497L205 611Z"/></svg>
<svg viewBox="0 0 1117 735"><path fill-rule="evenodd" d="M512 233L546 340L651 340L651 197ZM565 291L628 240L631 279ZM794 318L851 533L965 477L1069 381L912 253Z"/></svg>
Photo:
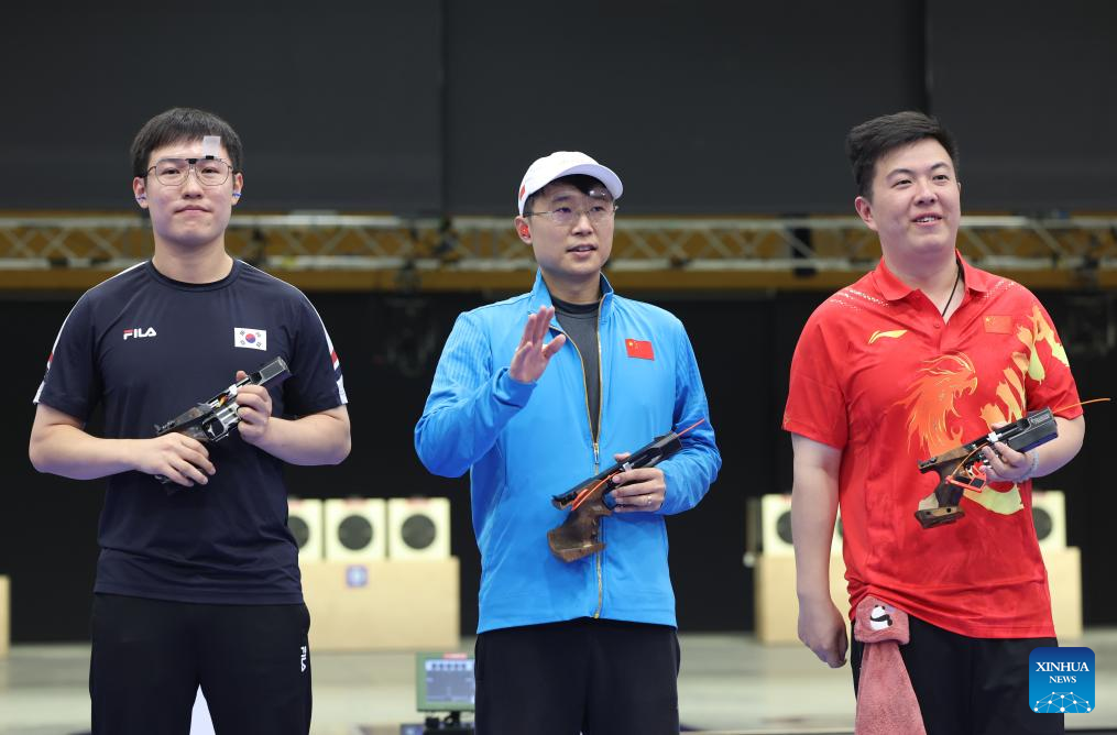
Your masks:
<svg viewBox="0 0 1117 735"><path fill-rule="evenodd" d="M317 309L302 293L295 302L295 340L289 355L290 378L283 385L284 402L292 416L309 416L344 405L342 363Z"/></svg>

